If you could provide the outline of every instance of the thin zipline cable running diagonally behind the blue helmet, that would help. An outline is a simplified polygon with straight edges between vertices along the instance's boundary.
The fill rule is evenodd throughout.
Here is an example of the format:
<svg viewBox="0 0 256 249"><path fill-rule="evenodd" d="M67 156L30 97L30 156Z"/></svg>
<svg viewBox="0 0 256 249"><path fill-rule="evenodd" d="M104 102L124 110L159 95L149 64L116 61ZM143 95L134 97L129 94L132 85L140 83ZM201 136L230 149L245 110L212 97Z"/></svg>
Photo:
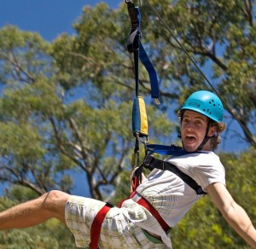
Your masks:
<svg viewBox="0 0 256 249"><path fill-rule="evenodd" d="M230 104L224 100L224 98L222 96L220 96L218 94L218 91L214 88L214 86L212 85L212 83L210 82L210 80L207 78L207 76L205 75L204 72L201 71L201 68L197 66L195 60L189 55L189 52L187 51L187 49L184 48L183 44L179 42L179 40L176 38L176 36L173 34L171 28L166 24L166 21L163 20L160 16L160 14L157 12L156 9L154 9L154 7L148 2L148 0L145 0L148 3L148 6L150 7L150 9L152 9L154 11L154 14L157 15L157 17L159 18L160 22L166 27L167 31L170 32L170 34L172 35L172 38L175 39L175 41L177 42L177 44L183 49L183 51L185 52L185 54L189 57L189 60L192 61L192 63L194 64L194 66L196 67L196 69L201 72L201 75L203 76L203 78L205 78L205 80L207 81L207 84L210 85L210 87L212 88L212 90L215 92L215 94L220 98L220 100L224 103L224 105L227 107L227 109L230 111L231 115L233 116L234 119L236 119L236 121L239 123L239 125L241 125L242 130L244 130L244 132L247 134L247 136L251 139L251 141L253 142L254 146L256 146L256 142L253 139L252 134L250 133L249 130L247 130L247 128L241 124L240 119L237 117L236 113L234 113L232 111L232 108L230 107Z"/></svg>

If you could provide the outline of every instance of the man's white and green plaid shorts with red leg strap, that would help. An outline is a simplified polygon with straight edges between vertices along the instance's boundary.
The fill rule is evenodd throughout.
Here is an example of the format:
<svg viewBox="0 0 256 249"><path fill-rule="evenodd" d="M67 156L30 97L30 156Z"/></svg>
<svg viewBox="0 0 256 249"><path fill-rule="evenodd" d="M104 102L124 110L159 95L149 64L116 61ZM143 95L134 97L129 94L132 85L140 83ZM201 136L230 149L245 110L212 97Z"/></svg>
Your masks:
<svg viewBox="0 0 256 249"><path fill-rule="evenodd" d="M67 200L67 227L74 235L76 246L90 245L90 227L97 212L105 203L79 196L71 196ZM100 248L165 248L161 241L151 241L143 229L137 227L125 217L118 207L108 211L102 223L99 238Z"/></svg>

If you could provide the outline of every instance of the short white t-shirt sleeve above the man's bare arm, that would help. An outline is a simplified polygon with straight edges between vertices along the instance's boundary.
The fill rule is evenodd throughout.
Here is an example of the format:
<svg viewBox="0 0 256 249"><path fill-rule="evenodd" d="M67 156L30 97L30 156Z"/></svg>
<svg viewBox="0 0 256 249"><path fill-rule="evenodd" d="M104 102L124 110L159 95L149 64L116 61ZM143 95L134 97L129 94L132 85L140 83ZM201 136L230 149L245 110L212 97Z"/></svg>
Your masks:
<svg viewBox="0 0 256 249"><path fill-rule="evenodd" d="M224 166L218 165L198 165L194 168L194 179L203 190L214 182L221 182L225 185L225 170Z"/></svg>

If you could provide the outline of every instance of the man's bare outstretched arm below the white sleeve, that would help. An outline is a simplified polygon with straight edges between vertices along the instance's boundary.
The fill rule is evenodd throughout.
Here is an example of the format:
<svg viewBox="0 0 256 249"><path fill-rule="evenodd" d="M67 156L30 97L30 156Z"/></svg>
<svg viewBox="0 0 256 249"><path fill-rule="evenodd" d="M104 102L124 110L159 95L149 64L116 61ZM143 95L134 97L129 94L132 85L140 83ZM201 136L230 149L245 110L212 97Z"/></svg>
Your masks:
<svg viewBox="0 0 256 249"><path fill-rule="evenodd" d="M253 223L247 216L246 211L233 200L224 184L220 182L212 183L207 187L207 192L225 220L236 230L236 233L246 240L250 246L256 248L256 230Z"/></svg>

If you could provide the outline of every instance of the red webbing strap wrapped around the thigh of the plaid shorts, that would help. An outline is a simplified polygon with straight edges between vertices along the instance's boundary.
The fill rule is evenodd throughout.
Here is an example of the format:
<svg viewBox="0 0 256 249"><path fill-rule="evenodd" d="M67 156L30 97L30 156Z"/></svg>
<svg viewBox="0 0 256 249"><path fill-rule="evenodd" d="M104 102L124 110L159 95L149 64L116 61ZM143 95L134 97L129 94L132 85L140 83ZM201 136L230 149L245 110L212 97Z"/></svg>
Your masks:
<svg viewBox="0 0 256 249"><path fill-rule="evenodd" d="M112 206L108 206L108 203L106 203L106 205L97 212L96 217L94 218L90 228L90 249L98 248L98 241L101 234L102 223L111 207Z"/></svg>

